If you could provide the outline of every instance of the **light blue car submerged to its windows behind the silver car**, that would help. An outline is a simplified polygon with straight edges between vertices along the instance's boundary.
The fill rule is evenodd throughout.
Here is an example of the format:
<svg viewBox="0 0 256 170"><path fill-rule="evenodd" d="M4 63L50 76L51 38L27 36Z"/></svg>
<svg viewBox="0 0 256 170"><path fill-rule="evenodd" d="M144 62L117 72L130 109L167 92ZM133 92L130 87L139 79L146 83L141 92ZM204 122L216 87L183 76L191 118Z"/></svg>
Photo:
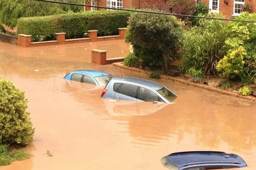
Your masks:
<svg viewBox="0 0 256 170"><path fill-rule="evenodd" d="M107 72L87 69L71 71L67 76L64 77L66 80L88 83L96 86L105 86L112 78L113 76Z"/></svg>

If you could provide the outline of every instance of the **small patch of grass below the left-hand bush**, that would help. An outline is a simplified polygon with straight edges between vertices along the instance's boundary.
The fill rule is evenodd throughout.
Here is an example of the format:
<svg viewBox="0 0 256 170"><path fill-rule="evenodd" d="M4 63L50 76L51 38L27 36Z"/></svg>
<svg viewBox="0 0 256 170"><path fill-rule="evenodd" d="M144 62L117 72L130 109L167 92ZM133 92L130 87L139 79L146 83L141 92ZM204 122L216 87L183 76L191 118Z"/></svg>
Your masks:
<svg viewBox="0 0 256 170"><path fill-rule="evenodd" d="M31 157L30 154L8 148L8 145L0 144L0 166L5 166L11 164L13 161L25 160Z"/></svg>

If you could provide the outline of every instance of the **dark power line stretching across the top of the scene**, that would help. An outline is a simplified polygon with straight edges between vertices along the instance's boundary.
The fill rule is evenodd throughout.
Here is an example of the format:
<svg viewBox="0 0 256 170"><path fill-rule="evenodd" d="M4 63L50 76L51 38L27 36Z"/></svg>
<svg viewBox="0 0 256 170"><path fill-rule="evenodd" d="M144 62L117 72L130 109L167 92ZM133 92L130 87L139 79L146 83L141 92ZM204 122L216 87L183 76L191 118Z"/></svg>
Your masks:
<svg viewBox="0 0 256 170"><path fill-rule="evenodd" d="M40 1L40 2L46 2L46 3L57 3L57 4L76 5L76 6L82 6L82 7L93 7L93 8L111 9L111 10L120 10L120 11L130 11L130 12L141 12L141 13L151 13L151 14L172 15L172 16L180 16L180 17L194 17L194 18L216 19L216 20L227 20L227 21L239 21L239 22L253 22L253 23L256 22L256 21L253 21L253 20L214 18L214 17L207 17L207 16L182 15L182 14L174 14L174 13L141 11L141 10L132 10L132 9L118 9L118 8L110 8L110 7L102 7L102 6L94 6L94 5L84 5L84 4L75 4L75 3L67 3L67 2L49 1L49 0L28 0L28 1Z"/></svg>

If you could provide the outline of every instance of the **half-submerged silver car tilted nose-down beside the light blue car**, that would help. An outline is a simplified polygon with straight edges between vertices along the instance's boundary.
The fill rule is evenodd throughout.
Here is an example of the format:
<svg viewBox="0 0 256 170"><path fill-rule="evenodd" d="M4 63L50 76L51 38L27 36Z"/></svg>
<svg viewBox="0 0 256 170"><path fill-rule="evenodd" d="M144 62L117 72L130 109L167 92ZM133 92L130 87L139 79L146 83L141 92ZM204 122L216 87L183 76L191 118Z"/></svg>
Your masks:
<svg viewBox="0 0 256 170"><path fill-rule="evenodd" d="M155 82L131 77L114 77L105 86L101 98L172 103L177 95Z"/></svg>

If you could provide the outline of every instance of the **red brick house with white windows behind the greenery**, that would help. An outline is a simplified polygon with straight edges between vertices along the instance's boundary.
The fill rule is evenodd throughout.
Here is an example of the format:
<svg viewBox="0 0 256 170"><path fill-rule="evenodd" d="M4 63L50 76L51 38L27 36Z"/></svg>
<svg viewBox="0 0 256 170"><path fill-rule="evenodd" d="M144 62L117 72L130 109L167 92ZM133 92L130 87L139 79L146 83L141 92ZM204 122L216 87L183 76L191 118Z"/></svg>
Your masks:
<svg viewBox="0 0 256 170"><path fill-rule="evenodd" d="M110 8L152 8L154 6L168 6L169 0L88 0L88 4ZM255 0L191 0L198 3L202 1L207 4L212 12L221 11L227 18L237 16L241 13L244 5L248 4L251 11L256 11ZM87 8L90 10L90 8ZM95 10L91 8L91 10Z"/></svg>

